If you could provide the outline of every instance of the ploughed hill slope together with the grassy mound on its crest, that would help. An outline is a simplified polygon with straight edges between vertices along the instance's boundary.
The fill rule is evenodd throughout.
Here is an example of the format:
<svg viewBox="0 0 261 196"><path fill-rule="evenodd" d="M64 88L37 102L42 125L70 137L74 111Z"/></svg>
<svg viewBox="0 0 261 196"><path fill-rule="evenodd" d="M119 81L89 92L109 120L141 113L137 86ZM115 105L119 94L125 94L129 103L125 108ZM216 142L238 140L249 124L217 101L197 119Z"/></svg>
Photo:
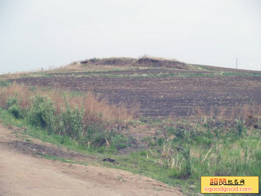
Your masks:
<svg viewBox="0 0 261 196"><path fill-rule="evenodd" d="M143 57L87 59L56 70L12 76L26 85L92 91L110 103L140 105L140 115L195 115L261 102L261 72ZM228 114L228 111L226 112Z"/></svg>

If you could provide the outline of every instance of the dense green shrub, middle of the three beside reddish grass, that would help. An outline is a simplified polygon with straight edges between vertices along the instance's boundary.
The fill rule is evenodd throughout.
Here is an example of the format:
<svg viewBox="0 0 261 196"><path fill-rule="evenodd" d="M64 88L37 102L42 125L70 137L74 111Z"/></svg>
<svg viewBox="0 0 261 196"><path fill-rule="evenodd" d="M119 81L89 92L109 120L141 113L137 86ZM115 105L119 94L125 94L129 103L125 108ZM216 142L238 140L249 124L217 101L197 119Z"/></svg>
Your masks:
<svg viewBox="0 0 261 196"><path fill-rule="evenodd" d="M47 129L51 134L55 130L55 107L50 98L43 96L33 97L33 105L28 113L29 122Z"/></svg>

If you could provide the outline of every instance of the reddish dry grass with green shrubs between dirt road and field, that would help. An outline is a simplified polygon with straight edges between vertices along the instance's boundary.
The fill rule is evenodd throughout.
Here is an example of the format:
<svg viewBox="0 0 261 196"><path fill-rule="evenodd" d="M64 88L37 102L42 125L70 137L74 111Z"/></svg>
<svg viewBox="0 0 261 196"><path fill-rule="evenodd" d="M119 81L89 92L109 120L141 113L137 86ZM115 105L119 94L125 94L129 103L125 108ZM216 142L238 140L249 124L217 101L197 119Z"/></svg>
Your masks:
<svg viewBox="0 0 261 196"><path fill-rule="evenodd" d="M0 87L0 107L50 134L64 134L75 139L87 137L93 127L100 127L100 131L124 127L138 109L109 104L108 100L98 100L92 93L80 95L18 84Z"/></svg>

